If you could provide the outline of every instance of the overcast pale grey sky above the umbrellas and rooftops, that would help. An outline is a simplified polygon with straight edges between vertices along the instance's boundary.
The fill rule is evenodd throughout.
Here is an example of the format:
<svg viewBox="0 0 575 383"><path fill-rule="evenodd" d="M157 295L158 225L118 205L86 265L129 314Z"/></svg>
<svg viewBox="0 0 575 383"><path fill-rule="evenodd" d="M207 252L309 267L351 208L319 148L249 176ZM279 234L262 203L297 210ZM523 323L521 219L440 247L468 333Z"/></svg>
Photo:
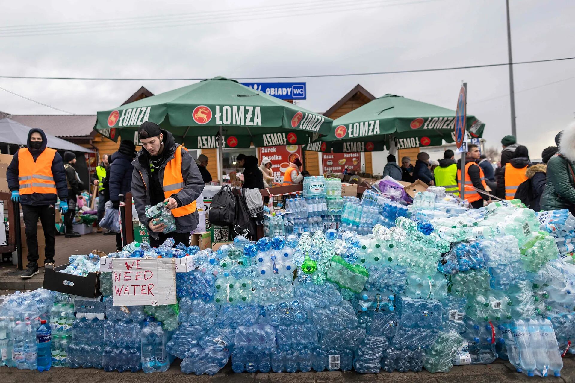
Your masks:
<svg viewBox="0 0 575 383"><path fill-rule="evenodd" d="M575 2L510 3L514 61L575 56ZM138 21L184 14L185 22ZM20 0L3 2L2 16L0 75L236 78L507 61L504 0ZM113 22L81 23L94 20ZM66 33L32 29L46 23L64 23L51 28ZM30 25L10 34L32 36L7 36L3 28L11 25ZM454 109L462 80L468 112L486 123L488 146L499 146L511 133L507 67L298 81L308 83L300 105L321 112L358 83L375 96L392 93ZM76 114L120 105L142 85L158 94L186 84L0 79L0 87ZM574 121L574 86L575 60L515 66L517 136L531 157L540 157ZM59 113L2 90L0 110Z"/></svg>

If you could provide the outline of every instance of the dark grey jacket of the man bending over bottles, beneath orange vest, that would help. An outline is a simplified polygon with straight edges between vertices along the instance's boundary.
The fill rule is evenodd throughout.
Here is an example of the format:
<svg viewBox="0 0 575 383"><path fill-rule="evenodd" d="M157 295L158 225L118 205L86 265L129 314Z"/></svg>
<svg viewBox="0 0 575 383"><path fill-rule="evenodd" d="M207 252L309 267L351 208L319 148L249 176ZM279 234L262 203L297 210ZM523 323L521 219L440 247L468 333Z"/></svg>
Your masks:
<svg viewBox="0 0 575 383"><path fill-rule="evenodd" d="M158 171L158 178L160 183L163 184L164 180L164 169L168 161L174 158L174 153L176 149L182 150L180 145L175 144L174 137L172 134L164 129L161 130L164 134L164 141L166 144L170 144L170 148L164 148L164 150L170 150L170 155L165 158L160 168L156 169ZM138 213L138 219L140 222L148 227L148 222L150 218L145 216L145 206L149 205L150 194L150 177L146 167L149 167L148 156L144 153L145 149L142 148L137 154L135 160L132 161L134 165L134 171L132 173L132 198L136 206L136 211ZM172 195L178 201L178 207L185 206L194 202L204 190L204 180L200 174L200 169L196 165L196 161L190 156L187 150L182 151L182 176L184 181L184 187L177 194ZM192 214L183 215L176 217L176 233L190 233L198 226L198 212L194 211ZM158 233L154 233L152 230L148 230L150 235L158 239Z"/></svg>

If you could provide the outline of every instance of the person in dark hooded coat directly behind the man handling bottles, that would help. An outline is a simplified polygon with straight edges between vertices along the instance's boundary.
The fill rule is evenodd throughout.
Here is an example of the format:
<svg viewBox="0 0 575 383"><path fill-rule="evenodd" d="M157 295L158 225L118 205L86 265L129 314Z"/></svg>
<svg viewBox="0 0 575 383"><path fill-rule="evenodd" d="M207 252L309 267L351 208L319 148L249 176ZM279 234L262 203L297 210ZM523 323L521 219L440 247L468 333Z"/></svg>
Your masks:
<svg viewBox="0 0 575 383"><path fill-rule="evenodd" d="M132 188L132 161L136 158L136 145L131 140L122 140L120 148L110 156L110 175L108 177L108 190L112 207L120 208L120 194L125 195ZM116 250L122 250L122 236L116 234Z"/></svg>

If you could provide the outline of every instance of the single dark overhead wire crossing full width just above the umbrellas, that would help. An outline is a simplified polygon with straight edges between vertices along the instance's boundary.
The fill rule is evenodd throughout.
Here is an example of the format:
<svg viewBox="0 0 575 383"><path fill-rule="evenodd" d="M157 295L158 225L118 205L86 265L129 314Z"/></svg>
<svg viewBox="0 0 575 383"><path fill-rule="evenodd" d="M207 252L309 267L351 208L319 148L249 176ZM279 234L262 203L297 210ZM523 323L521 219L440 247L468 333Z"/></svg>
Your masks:
<svg viewBox="0 0 575 383"><path fill-rule="evenodd" d="M339 73L331 75L300 75L300 76L267 76L267 77L235 77L235 80L271 80L271 79L304 79L304 78L322 78L322 77L342 77L342 76L369 76L369 75L390 75L394 73L418 73L418 72L439 72L439 71L453 71L456 69L474 69L474 68L489 68L489 67L502 67L504 65L520 65L520 64L535 64L535 63L550 63L553 61L573 60L575 57L561 57L559 59L545 59L545 60L531 60L531 61L518 61L516 63L499 63L499 64L482 64L482 65L466 65L463 67L444 67L444 68L427 68L427 69L411 69L405 71L386 71L386 72L361 72L361 73ZM34 79L34 80L90 80L90 81L201 81L206 78L165 78L165 79L145 79L145 78L97 78L97 77L45 77L45 76L2 76L3 79Z"/></svg>

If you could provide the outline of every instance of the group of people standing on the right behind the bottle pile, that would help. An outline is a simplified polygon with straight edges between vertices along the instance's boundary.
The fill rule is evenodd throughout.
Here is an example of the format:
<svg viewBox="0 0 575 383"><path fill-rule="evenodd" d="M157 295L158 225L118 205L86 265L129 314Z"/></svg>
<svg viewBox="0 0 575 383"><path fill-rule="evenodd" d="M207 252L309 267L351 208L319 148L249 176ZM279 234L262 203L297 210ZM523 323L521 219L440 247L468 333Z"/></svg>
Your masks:
<svg viewBox="0 0 575 383"><path fill-rule="evenodd" d="M514 136L505 136L496 167L475 144L467 145L463 165L449 149L438 161L420 152L415 166L411 158L402 157L400 167L390 154L383 175L407 182L421 180L459 195L463 172L465 199L474 208L493 200L520 199L535 211L568 209L575 214L575 124L559 132L555 144L543 149L541 161L535 162L526 146L517 144Z"/></svg>

